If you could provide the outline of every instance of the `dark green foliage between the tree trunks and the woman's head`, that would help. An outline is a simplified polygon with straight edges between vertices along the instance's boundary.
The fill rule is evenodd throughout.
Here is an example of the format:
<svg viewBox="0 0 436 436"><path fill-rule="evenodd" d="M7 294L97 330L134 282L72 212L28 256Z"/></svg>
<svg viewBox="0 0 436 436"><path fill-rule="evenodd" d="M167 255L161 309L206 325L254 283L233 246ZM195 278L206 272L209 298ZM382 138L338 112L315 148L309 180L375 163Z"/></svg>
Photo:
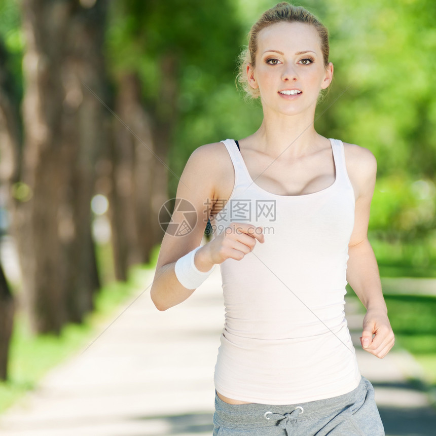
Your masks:
<svg viewBox="0 0 436 436"><path fill-rule="evenodd" d="M132 71L141 78L144 106L150 113L156 115L165 89L176 87L169 157L176 174L201 144L228 137L227 120L235 124L240 118L247 124L247 116L236 116L243 105L234 84L242 31L234 2L113 2L106 36L112 74ZM163 82L168 56L175 83ZM170 196L177 183L176 177L170 179Z"/></svg>

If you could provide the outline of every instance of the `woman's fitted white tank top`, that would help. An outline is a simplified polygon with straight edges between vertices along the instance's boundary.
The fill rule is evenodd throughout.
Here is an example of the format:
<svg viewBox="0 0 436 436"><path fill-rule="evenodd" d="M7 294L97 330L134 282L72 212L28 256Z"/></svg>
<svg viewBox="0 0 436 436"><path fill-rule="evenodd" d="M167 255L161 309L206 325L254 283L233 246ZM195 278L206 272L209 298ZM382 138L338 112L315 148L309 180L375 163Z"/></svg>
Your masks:
<svg viewBox="0 0 436 436"><path fill-rule="evenodd" d="M233 139L231 196L210 217L213 237L232 222L264 227L265 243L222 264L225 324L215 388L241 401L296 404L353 390L360 381L344 314L354 192L342 141L330 139L334 183L285 196L251 179Z"/></svg>

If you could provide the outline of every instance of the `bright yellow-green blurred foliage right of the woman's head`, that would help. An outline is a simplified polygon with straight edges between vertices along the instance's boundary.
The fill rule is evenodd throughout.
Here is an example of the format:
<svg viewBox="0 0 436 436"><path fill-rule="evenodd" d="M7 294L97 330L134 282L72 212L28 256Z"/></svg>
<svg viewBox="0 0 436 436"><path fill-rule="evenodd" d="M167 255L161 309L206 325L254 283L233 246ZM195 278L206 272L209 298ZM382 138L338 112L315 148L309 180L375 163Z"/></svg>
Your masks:
<svg viewBox="0 0 436 436"><path fill-rule="evenodd" d="M371 149L381 175L434 175L435 18L430 0L329 2L332 94L351 88L323 128L333 125L336 136Z"/></svg>

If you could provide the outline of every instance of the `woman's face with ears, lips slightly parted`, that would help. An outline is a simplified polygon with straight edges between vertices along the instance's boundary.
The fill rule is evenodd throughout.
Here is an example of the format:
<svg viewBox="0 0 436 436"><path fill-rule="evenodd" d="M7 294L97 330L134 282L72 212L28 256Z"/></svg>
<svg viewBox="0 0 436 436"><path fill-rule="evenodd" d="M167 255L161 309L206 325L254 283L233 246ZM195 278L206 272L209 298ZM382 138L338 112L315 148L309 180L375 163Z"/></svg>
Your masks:
<svg viewBox="0 0 436 436"><path fill-rule="evenodd" d="M247 75L248 83L259 88L264 112L314 113L319 91L332 81L333 64L324 67L315 27L281 22L259 32L256 66L249 64Z"/></svg>

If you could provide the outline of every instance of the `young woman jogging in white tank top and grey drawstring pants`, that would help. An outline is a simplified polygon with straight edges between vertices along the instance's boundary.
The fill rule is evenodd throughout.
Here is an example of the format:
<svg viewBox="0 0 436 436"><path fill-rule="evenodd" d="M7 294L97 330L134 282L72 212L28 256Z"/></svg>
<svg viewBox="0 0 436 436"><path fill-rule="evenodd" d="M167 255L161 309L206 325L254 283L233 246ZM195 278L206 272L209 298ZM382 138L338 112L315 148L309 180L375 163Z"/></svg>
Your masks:
<svg viewBox="0 0 436 436"><path fill-rule="evenodd" d="M190 156L177 198L199 223L165 234L151 297L172 307L221 266L214 435L382 435L344 318L348 280L367 309L362 347L382 358L393 346L367 237L376 160L314 129L333 64L312 14L287 3L266 11L244 59L240 78L261 99L262 125ZM209 218L214 237L200 247Z"/></svg>

